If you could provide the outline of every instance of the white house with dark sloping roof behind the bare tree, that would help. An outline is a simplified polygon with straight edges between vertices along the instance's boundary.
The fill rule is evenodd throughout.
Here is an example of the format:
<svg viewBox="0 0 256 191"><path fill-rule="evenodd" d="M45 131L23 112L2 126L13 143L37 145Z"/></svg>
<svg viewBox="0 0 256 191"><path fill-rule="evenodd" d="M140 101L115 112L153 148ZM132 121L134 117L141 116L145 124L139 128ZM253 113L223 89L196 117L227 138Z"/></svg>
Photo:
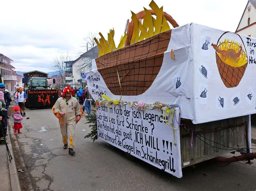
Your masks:
<svg viewBox="0 0 256 191"><path fill-rule="evenodd" d="M69 64L69 67L66 68L66 78L65 78L66 81L72 80L72 83L71 81L69 81L68 83L69 85L73 87L84 87L86 83L82 82L82 74L91 70L92 59L97 58L98 54L99 54L99 48L98 46L95 46L94 48L83 53L78 59L72 61L72 63ZM74 76L73 79L71 79L70 74Z"/></svg>

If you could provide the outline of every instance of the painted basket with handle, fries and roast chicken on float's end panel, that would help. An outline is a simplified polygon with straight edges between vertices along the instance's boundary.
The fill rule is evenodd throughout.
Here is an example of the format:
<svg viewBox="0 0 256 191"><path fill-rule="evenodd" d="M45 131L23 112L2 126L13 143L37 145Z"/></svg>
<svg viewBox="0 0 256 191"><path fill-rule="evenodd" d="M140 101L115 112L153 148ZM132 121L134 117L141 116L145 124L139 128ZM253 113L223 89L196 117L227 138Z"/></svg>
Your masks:
<svg viewBox="0 0 256 191"><path fill-rule="evenodd" d="M235 39L225 38L227 33L232 34ZM236 33L225 32L218 39L217 45L211 45L216 50L216 62L224 85L227 88L237 87L248 64L242 38Z"/></svg>

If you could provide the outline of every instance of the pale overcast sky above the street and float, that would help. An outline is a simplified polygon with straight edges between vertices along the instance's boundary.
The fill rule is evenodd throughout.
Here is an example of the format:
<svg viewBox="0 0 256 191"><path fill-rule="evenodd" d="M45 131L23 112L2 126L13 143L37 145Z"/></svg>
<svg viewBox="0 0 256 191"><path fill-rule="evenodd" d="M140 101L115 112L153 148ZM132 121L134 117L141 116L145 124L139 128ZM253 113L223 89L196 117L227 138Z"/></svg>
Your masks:
<svg viewBox="0 0 256 191"><path fill-rule="evenodd" d="M78 57L89 32L107 38L114 28L118 44L130 10L150 9L150 1L1 1L0 53L14 60L17 71L52 71L51 62L59 54L68 50L74 59ZM194 22L232 32L247 4L247 0L155 2L180 26Z"/></svg>

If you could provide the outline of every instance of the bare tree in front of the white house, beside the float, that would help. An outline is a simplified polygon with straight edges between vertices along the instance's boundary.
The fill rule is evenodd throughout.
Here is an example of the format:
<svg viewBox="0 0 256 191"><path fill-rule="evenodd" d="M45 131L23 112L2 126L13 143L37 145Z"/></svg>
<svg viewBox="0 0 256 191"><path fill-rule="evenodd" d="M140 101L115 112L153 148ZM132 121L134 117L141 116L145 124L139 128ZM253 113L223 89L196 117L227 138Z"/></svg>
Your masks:
<svg viewBox="0 0 256 191"><path fill-rule="evenodd" d="M91 70L92 60L98 57L99 49L94 38L99 39L99 35L96 32L90 32L83 39L83 42L81 43L82 51L80 51L79 54L83 55L86 53L86 55L84 55L83 62L77 65L77 72L86 72Z"/></svg>

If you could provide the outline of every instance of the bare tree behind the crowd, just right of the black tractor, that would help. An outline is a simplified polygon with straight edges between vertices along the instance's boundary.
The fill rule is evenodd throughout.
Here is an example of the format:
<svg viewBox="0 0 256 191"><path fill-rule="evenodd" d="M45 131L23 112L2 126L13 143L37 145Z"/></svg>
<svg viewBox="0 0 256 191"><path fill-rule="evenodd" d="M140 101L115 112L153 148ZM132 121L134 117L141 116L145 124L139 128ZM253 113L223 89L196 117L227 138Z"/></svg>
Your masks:
<svg viewBox="0 0 256 191"><path fill-rule="evenodd" d="M58 72L61 76L62 87L64 87L65 80L63 79L63 75L66 71L66 63L64 62L71 61L71 60L72 60L72 56L67 51L65 54L62 53L60 54L60 56L55 57L51 63L50 69Z"/></svg>

